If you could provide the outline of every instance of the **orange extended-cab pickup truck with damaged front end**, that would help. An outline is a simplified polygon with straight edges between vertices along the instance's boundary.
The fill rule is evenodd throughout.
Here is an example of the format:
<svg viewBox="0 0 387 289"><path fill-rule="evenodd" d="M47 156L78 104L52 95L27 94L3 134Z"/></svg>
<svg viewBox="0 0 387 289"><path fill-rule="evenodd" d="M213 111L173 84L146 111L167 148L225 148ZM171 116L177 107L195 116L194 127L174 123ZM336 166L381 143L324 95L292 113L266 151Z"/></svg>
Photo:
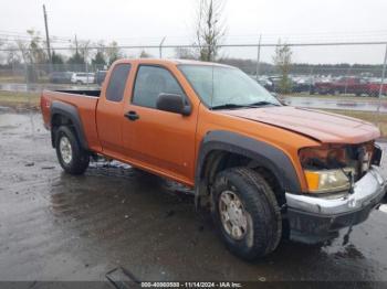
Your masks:
<svg viewBox="0 0 387 289"><path fill-rule="evenodd" d="M44 90L41 109L65 172L104 156L190 186L244 259L333 238L386 192L376 127L284 106L231 66L122 60L101 92Z"/></svg>

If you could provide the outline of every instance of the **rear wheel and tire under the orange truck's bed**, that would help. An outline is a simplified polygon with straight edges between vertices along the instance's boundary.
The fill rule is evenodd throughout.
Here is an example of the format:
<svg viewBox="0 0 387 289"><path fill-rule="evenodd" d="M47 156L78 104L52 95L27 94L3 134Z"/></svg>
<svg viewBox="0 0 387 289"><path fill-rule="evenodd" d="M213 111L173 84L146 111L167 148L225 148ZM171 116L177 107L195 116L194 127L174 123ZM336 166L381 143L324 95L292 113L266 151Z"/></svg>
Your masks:
<svg viewBox="0 0 387 289"><path fill-rule="evenodd" d="M55 135L56 157L63 170L70 174L83 174L88 168L90 154L81 148L73 130L62 126Z"/></svg>

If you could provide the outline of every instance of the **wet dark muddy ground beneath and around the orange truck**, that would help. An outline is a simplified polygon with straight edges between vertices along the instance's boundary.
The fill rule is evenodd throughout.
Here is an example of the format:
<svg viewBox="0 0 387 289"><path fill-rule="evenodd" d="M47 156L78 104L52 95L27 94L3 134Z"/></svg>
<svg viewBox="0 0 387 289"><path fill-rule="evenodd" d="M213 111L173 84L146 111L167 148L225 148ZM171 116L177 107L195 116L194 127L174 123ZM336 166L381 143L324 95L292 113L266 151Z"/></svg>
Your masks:
<svg viewBox="0 0 387 289"><path fill-rule="evenodd" d="M291 242L255 263L226 250L184 188L125 165L62 172L34 113L0 113L0 280L387 281L387 214L323 247Z"/></svg>

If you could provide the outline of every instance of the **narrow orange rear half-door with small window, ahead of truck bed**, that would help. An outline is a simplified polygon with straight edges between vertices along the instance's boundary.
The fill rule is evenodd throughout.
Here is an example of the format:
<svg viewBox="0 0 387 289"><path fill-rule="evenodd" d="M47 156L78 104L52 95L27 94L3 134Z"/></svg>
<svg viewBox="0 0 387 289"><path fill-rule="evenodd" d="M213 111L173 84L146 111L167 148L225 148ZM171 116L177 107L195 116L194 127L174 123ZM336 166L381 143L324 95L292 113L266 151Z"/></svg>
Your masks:
<svg viewBox="0 0 387 289"><path fill-rule="evenodd" d="M113 67L108 83L104 84L96 109L98 138L104 153L112 157L123 153L122 120L123 99L130 72L129 63Z"/></svg>

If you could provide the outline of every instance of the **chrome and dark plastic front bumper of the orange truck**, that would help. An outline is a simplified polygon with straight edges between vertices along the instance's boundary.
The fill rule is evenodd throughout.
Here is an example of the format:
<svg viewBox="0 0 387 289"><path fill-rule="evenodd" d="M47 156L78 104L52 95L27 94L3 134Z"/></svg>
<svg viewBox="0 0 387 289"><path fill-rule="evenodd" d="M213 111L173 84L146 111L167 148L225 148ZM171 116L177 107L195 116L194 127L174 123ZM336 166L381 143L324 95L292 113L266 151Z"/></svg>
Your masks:
<svg viewBox="0 0 387 289"><path fill-rule="evenodd" d="M314 244L337 236L341 228L367 220L386 194L380 169L372 169L354 185L354 193L338 199L286 193L291 239Z"/></svg>

